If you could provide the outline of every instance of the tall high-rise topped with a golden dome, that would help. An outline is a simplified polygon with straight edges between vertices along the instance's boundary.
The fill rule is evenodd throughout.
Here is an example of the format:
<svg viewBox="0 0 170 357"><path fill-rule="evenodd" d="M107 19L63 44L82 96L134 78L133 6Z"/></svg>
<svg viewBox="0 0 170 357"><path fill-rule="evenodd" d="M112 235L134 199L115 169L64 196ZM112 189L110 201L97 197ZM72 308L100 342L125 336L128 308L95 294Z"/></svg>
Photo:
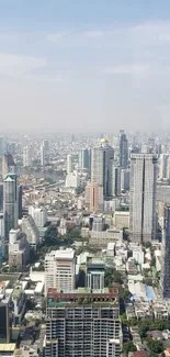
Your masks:
<svg viewBox="0 0 170 357"><path fill-rule="evenodd" d="M114 149L106 138L101 140L101 145L92 149L91 155L91 182L103 186L104 197L112 196Z"/></svg>

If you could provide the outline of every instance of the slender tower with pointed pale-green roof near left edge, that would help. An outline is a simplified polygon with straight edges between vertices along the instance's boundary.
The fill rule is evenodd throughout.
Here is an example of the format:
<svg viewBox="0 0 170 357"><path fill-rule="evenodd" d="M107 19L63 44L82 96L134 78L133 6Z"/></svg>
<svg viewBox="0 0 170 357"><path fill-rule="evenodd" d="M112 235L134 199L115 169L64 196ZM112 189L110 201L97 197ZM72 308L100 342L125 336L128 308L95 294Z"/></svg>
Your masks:
<svg viewBox="0 0 170 357"><path fill-rule="evenodd" d="M3 180L3 214L4 237L8 241L10 230L18 227L19 220L18 177L14 174L8 174Z"/></svg>

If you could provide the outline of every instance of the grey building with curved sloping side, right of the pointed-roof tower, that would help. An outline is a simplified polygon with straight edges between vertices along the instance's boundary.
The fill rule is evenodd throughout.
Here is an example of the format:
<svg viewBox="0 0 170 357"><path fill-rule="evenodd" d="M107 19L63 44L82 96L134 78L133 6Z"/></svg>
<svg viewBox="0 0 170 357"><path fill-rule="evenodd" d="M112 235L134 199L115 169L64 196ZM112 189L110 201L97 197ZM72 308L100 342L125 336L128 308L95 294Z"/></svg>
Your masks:
<svg viewBox="0 0 170 357"><path fill-rule="evenodd" d="M39 243L39 232L31 215L24 215L22 219L22 232L26 235L30 247L36 249Z"/></svg>

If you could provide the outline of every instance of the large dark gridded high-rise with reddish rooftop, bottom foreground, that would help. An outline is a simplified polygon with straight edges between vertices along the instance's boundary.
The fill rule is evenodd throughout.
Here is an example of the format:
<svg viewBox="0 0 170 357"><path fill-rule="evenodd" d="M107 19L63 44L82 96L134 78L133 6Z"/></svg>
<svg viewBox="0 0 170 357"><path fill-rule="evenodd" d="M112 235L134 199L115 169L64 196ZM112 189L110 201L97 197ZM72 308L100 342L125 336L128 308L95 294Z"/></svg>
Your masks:
<svg viewBox="0 0 170 357"><path fill-rule="evenodd" d="M117 289L58 292L49 289L46 339L59 357L120 357L122 328Z"/></svg>

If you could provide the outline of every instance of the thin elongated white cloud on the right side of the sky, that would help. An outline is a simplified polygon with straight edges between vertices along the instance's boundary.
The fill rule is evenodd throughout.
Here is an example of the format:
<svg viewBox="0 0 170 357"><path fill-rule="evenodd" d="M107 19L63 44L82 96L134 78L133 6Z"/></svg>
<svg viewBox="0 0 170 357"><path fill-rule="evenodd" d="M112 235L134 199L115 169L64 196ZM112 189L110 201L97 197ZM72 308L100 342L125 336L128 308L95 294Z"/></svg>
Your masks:
<svg viewBox="0 0 170 357"><path fill-rule="evenodd" d="M105 75L146 75L148 66L144 65L117 65L102 70Z"/></svg>

